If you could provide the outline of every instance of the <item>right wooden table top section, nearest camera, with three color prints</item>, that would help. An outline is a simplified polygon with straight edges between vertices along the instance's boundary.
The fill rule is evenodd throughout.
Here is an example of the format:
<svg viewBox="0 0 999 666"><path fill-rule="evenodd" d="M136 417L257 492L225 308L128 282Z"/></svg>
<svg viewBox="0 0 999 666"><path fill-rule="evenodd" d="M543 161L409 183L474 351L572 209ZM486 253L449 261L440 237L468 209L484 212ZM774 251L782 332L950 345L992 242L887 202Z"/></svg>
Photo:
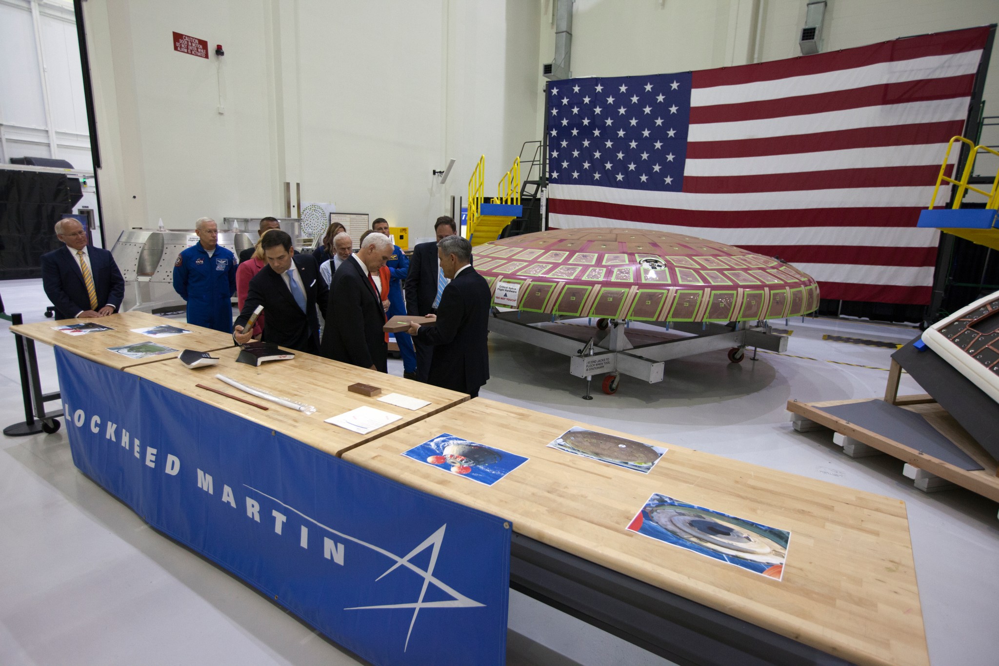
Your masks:
<svg viewBox="0 0 999 666"><path fill-rule="evenodd" d="M546 444L574 425L668 451L647 474ZM448 432L530 459L487 486L400 455ZM344 455L513 529L858 664L929 664L905 503L475 398ZM625 528L657 492L791 532L783 579Z"/></svg>

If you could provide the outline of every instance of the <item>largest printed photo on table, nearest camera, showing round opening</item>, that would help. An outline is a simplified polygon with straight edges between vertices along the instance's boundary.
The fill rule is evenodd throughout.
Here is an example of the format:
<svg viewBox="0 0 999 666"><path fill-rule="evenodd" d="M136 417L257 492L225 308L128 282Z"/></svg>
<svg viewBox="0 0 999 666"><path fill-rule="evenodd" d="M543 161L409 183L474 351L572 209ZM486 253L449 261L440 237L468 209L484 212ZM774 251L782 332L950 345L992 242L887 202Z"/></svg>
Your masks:
<svg viewBox="0 0 999 666"><path fill-rule="evenodd" d="M627 529L780 580L791 533L653 493Z"/></svg>

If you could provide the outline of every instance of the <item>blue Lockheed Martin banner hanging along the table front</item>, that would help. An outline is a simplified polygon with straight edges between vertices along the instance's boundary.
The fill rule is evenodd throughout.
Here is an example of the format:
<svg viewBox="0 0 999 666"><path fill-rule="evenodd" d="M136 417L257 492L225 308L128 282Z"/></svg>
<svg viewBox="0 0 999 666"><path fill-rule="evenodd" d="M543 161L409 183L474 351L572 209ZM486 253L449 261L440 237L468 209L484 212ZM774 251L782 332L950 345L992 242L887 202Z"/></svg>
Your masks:
<svg viewBox="0 0 999 666"><path fill-rule="evenodd" d="M73 461L151 525L374 663L505 663L501 518L59 347L56 362Z"/></svg>

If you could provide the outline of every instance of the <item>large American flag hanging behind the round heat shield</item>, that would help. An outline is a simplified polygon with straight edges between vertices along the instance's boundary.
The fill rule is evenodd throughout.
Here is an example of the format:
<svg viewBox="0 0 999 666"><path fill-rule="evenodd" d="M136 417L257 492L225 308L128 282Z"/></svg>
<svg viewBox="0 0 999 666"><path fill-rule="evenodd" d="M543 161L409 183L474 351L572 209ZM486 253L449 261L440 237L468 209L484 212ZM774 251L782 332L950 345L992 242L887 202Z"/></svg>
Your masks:
<svg viewBox="0 0 999 666"><path fill-rule="evenodd" d="M549 227L687 234L779 257L824 299L925 305L939 232L916 221L988 34L552 82Z"/></svg>

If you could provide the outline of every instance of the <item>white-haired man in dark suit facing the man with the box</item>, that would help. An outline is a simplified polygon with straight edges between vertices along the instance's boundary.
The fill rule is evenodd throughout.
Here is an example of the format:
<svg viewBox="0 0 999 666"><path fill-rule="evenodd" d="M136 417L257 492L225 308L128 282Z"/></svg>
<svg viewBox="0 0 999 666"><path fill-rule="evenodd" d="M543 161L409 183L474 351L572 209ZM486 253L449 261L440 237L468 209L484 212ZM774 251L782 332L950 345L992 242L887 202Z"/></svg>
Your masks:
<svg viewBox="0 0 999 666"><path fill-rule="evenodd" d="M323 332L322 355L345 363L389 371L385 341L385 309L372 282L392 257L392 241L369 234L356 255L340 265L330 285L330 305Z"/></svg>

